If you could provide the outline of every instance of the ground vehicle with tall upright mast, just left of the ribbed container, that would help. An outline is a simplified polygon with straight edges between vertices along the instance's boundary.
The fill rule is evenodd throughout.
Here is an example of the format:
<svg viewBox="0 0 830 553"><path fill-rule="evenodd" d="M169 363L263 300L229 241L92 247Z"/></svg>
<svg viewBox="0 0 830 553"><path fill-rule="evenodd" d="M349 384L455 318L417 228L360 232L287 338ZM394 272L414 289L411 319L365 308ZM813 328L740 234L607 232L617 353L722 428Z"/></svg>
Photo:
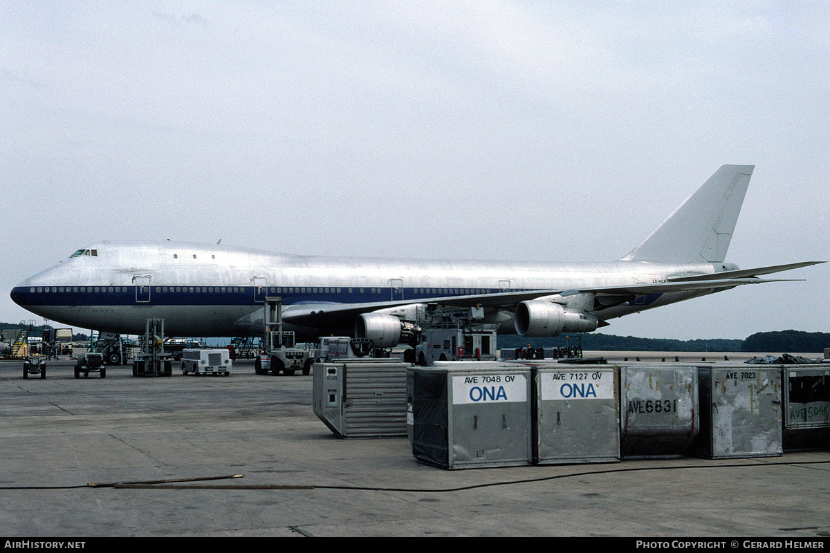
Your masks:
<svg viewBox="0 0 830 553"><path fill-rule="evenodd" d="M262 337L260 356L254 361L257 375L293 375L311 371L311 354L307 347L296 347L294 332L282 330L282 298L265 298L265 335Z"/></svg>

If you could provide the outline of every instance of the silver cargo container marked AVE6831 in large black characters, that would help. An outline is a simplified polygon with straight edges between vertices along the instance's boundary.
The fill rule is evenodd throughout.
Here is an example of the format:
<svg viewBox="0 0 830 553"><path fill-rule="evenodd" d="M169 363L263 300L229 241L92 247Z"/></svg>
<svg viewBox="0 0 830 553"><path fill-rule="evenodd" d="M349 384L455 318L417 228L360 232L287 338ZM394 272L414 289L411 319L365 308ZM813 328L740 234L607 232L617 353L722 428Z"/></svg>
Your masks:
<svg viewBox="0 0 830 553"><path fill-rule="evenodd" d="M700 430L697 386L695 366L620 366L623 458L688 454Z"/></svg>

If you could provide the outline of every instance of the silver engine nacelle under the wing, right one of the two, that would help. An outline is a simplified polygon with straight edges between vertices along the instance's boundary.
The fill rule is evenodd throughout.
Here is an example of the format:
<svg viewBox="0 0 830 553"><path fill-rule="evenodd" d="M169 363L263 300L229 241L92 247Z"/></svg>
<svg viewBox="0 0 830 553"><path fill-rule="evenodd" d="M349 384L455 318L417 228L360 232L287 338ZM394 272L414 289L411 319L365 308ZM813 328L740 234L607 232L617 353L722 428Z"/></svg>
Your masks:
<svg viewBox="0 0 830 553"><path fill-rule="evenodd" d="M516 306L516 332L525 337L552 337L562 332L593 332L599 321L587 311L563 308L559 303L531 299Z"/></svg>

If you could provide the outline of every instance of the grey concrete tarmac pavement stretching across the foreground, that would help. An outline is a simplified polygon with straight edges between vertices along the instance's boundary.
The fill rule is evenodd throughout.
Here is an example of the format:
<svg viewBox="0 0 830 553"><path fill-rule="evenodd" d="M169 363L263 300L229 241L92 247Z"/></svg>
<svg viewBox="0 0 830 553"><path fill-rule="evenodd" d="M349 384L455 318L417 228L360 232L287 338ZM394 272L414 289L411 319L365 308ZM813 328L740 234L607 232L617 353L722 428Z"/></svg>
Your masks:
<svg viewBox="0 0 830 553"><path fill-rule="evenodd" d="M738 548L828 547L826 449L447 471L417 463L406 438L335 437L312 411L311 376L257 376L253 361L235 361L227 377L110 367L75 379L73 366L48 361L46 379L24 380L22 361L0 364L7 538L740 536ZM111 485L183 479L195 480Z"/></svg>

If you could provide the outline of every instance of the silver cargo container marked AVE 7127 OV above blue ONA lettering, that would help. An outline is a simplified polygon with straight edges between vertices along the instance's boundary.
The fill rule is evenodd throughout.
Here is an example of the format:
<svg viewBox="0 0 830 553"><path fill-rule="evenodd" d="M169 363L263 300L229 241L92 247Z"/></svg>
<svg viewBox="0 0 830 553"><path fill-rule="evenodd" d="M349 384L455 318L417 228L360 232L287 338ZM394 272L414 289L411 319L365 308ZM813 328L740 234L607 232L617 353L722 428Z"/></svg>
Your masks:
<svg viewBox="0 0 830 553"><path fill-rule="evenodd" d="M534 462L619 461L618 367L534 367Z"/></svg>

